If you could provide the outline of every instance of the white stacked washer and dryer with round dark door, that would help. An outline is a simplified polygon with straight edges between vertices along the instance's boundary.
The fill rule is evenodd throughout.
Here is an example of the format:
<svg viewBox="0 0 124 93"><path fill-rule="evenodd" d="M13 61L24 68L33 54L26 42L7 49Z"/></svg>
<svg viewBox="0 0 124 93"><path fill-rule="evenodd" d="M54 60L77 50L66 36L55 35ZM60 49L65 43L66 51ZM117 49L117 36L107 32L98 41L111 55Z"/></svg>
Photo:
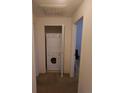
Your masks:
<svg viewBox="0 0 124 93"><path fill-rule="evenodd" d="M62 33L53 28L49 30L46 32L47 71L60 71Z"/></svg>

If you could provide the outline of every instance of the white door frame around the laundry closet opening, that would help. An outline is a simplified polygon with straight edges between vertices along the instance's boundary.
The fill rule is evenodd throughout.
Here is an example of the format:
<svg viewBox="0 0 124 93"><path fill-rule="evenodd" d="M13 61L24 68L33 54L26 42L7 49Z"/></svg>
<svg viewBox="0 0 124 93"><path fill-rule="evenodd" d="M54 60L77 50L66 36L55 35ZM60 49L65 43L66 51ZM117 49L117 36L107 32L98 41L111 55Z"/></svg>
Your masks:
<svg viewBox="0 0 124 93"><path fill-rule="evenodd" d="M62 47L61 47L61 63L60 63L60 72L61 72L61 77L63 77L63 73L64 73L64 46L65 46L65 30L64 30L64 25L63 24L45 24L44 25L44 32L45 32L45 26L62 26ZM45 37L46 39L46 37ZM45 40L44 39L44 40ZM46 40L45 40L46 43ZM46 44L45 44L45 49L46 49ZM46 55L46 51L45 51L45 55ZM45 65L46 65L47 59L45 56ZM47 71L47 67L45 66L45 69Z"/></svg>

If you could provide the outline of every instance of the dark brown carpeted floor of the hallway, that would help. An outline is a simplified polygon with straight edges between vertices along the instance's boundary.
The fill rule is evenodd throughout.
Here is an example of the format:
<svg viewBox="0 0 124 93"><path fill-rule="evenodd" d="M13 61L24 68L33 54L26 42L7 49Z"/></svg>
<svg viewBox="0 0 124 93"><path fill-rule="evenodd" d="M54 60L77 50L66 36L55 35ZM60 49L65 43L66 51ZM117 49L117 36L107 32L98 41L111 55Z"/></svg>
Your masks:
<svg viewBox="0 0 124 93"><path fill-rule="evenodd" d="M77 93L77 78L70 78L59 73L40 74L37 78L37 93Z"/></svg>

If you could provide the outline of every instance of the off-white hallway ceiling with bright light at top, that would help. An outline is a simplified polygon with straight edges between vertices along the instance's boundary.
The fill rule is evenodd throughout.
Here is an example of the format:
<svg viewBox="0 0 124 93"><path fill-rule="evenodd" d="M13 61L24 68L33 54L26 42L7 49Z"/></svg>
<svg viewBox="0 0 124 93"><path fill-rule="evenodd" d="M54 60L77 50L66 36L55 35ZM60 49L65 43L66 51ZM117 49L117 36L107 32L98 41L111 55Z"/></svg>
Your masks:
<svg viewBox="0 0 124 93"><path fill-rule="evenodd" d="M82 0L33 0L36 16L71 16Z"/></svg>

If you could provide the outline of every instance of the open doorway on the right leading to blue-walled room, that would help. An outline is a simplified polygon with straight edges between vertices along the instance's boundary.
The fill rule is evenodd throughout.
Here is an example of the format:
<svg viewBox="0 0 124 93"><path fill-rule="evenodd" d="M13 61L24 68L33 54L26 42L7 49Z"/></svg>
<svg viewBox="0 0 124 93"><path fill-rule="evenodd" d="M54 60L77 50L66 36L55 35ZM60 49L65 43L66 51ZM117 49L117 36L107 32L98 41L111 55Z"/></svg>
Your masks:
<svg viewBox="0 0 124 93"><path fill-rule="evenodd" d="M70 77L78 77L80 68L80 54L82 46L83 17L73 24L72 32L72 57Z"/></svg>

